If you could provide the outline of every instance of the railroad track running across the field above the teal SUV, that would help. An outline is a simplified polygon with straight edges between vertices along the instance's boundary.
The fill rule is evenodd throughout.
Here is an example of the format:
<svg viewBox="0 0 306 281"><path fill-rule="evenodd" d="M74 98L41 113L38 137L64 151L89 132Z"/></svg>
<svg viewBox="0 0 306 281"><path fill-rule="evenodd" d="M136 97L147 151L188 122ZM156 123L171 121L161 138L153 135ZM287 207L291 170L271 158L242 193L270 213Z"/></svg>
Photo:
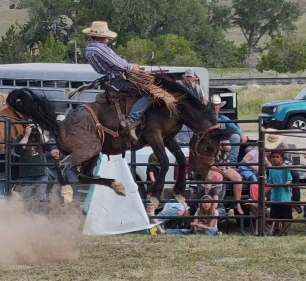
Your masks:
<svg viewBox="0 0 306 281"><path fill-rule="evenodd" d="M210 79L210 86L244 86L247 84L258 85L291 85L306 84L306 77L270 77L270 78L224 78Z"/></svg>

